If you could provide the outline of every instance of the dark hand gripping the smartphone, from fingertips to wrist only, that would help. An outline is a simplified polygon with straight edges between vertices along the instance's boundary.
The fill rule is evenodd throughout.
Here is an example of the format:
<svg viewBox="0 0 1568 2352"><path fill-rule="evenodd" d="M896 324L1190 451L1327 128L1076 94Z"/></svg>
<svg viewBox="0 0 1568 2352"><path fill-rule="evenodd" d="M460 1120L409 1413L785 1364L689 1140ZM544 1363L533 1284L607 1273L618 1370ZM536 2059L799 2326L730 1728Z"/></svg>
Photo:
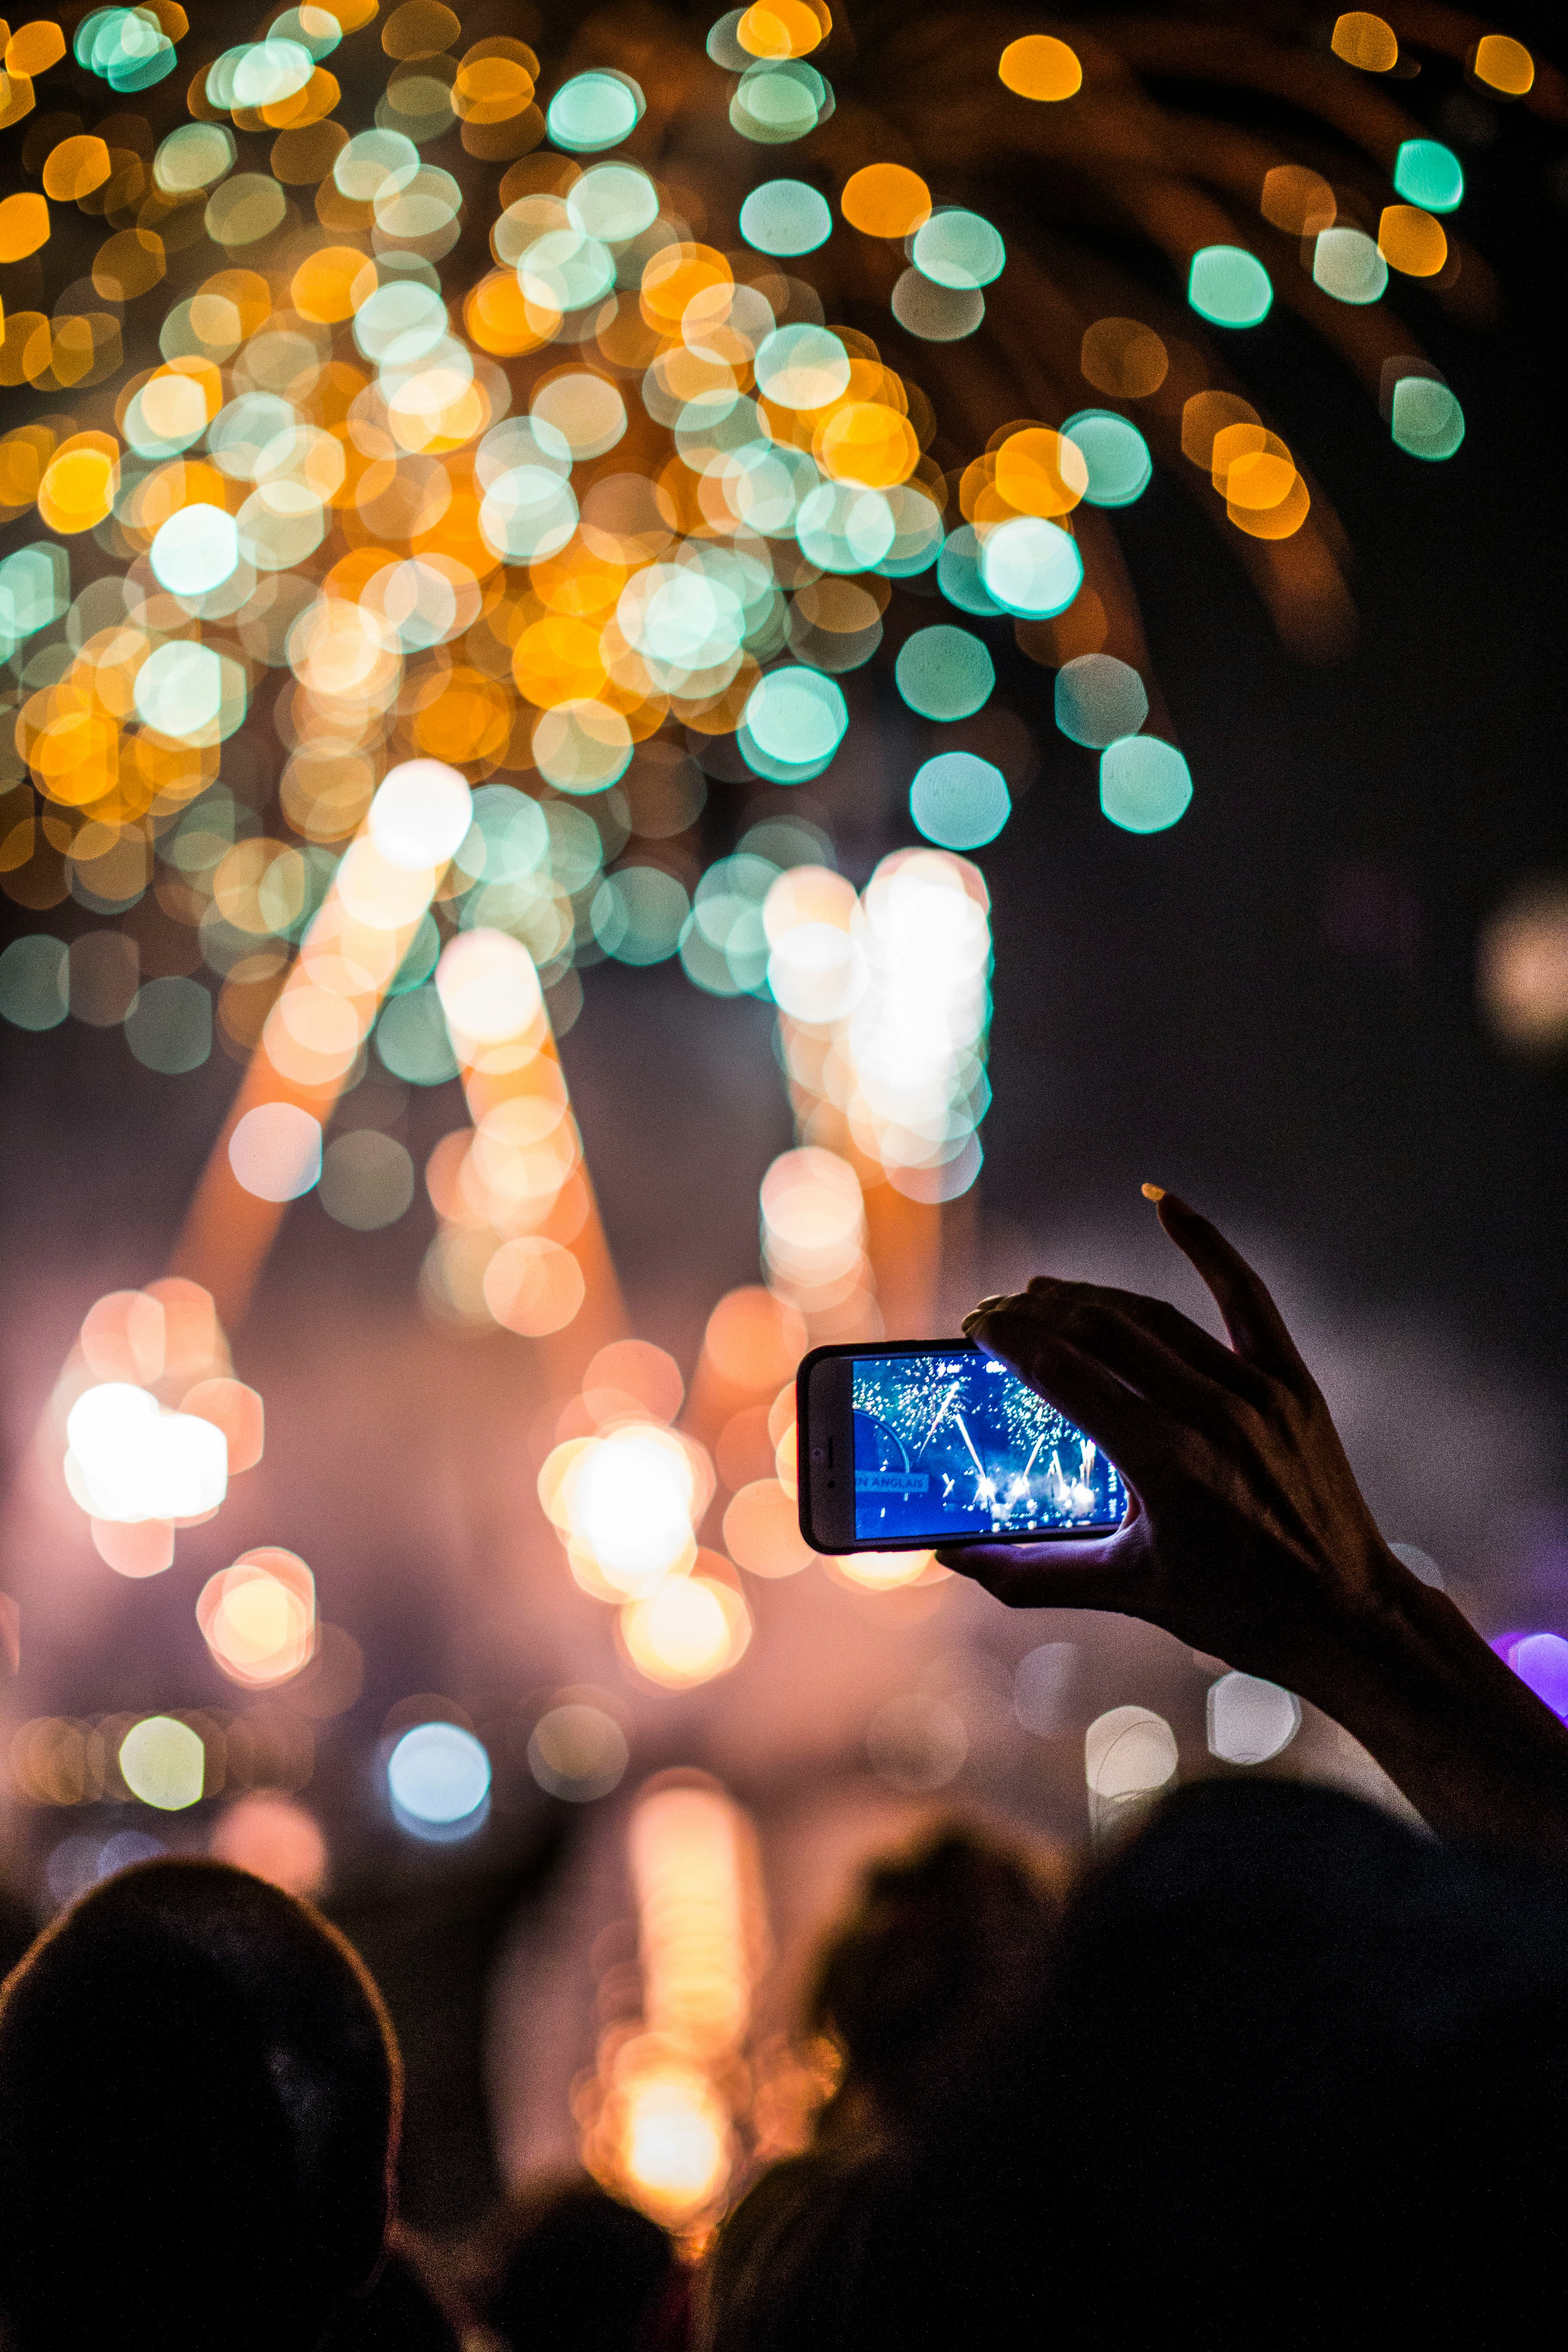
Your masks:
<svg viewBox="0 0 1568 2352"><path fill-rule="evenodd" d="M1215 1225L1157 1200L1229 1348L1159 1298L1048 1275L964 1324L1110 1454L1126 1519L1098 1541L938 1557L1011 1609L1114 1609L1316 1696L1418 1581L1378 1534L1265 1284Z"/></svg>

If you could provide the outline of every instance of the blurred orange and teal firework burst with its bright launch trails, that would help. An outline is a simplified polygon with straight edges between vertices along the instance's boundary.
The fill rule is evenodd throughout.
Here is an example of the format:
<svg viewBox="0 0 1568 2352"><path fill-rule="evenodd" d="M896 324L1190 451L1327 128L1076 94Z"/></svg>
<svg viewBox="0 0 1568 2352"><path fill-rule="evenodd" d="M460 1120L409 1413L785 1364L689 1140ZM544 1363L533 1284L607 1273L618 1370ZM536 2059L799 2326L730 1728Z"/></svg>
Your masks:
<svg viewBox="0 0 1568 2352"><path fill-rule="evenodd" d="M1434 7L341 0L228 33L150 0L7 35L0 887L106 927L14 941L0 1011L122 1025L162 1075L214 1042L249 1065L176 1254L228 1324L317 1176L350 1230L407 1209L395 1138L322 1155L367 1056L461 1075L425 1303L569 1334L574 1385L621 1310L555 1040L581 967L679 960L780 1007L778 1315L919 1324L990 1098L959 851L1034 755L1009 635L1105 816L1173 826L1117 510L1180 480L1286 644L1342 649L1345 529L1237 355L1291 310L1401 452L1453 456L1389 285L1488 315L1436 132L1561 122L1561 75ZM877 661L931 847L858 891ZM738 1381L710 1331L693 1411L766 1409L757 1329ZM799 1564L769 1529L741 1534L764 1573ZM726 1569L609 1578L642 1672L738 1653ZM712 1625L665 1625L672 1592Z"/></svg>

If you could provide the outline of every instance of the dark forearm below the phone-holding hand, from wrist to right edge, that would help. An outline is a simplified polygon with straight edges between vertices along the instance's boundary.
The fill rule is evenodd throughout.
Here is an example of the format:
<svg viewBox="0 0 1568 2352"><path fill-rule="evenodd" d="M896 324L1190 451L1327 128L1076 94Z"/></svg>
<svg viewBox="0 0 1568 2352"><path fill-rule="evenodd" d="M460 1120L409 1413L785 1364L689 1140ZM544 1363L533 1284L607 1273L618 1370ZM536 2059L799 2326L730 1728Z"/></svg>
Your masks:
<svg viewBox="0 0 1568 2352"><path fill-rule="evenodd" d="M1309 1682L1439 1837L1568 1863L1568 1729L1441 1592L1401 1583Z"/></svg>

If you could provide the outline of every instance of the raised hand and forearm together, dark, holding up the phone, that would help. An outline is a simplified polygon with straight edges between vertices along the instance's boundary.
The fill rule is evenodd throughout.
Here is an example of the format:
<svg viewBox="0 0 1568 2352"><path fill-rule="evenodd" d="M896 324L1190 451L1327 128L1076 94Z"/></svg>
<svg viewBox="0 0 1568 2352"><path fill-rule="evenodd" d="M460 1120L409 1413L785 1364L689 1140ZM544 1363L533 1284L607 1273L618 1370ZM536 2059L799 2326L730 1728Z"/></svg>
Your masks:
<svg viewBox="0 0 1568 2352"><path fill-rule="evenodd" d="M964 1329L1110 1454L1133 1496L1098 1541L940 1552L1013 1609L1112 1609L1312 1698L1434 1828L1568 1856L1568 1731L1394 1557L1267 1287L1225 1235L1145 1192L1229 1348L1159 1298L1058 1282Z"/></svg>

